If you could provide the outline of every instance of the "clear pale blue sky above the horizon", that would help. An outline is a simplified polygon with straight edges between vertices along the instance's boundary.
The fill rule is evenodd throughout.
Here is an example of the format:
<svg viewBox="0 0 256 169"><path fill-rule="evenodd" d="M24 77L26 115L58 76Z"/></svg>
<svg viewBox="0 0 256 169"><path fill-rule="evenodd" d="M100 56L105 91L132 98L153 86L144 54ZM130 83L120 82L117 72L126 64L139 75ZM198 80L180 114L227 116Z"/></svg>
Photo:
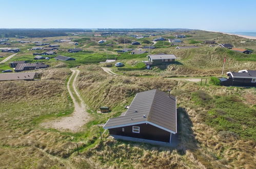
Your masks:
<svg viewBox="0 0 256 169"><path fill-rule="evenodd" d="M188 28L256 32L256 1L0 0L0 28Z"/></svg>

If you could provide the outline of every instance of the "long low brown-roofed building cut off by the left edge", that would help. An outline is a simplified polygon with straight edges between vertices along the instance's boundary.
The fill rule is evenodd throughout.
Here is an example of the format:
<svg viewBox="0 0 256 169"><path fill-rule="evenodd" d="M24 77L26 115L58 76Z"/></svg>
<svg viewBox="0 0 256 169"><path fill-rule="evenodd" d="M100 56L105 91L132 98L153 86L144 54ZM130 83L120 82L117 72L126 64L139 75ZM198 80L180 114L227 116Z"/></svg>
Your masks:
<svg viewBox="0 0 256 169"><path fill-rule="evenodd" d="M35 72L29 73L1 73L0 81L8 81L8 80L34 80L37 76Z"/></svg>

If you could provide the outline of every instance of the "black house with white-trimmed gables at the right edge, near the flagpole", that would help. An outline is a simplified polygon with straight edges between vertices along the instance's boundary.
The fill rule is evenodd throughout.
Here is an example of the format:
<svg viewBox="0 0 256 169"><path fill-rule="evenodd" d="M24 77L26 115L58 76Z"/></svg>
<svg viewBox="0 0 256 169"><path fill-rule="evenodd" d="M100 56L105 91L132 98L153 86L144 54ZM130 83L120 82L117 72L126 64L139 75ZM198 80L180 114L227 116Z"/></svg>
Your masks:
<svg viewBox="0 0 256 169"><path fill-rule="evenodd" d="M256 87L256 70L241 70L227 72L229 78L219 78L223 86L253 86Z"/></svg>

